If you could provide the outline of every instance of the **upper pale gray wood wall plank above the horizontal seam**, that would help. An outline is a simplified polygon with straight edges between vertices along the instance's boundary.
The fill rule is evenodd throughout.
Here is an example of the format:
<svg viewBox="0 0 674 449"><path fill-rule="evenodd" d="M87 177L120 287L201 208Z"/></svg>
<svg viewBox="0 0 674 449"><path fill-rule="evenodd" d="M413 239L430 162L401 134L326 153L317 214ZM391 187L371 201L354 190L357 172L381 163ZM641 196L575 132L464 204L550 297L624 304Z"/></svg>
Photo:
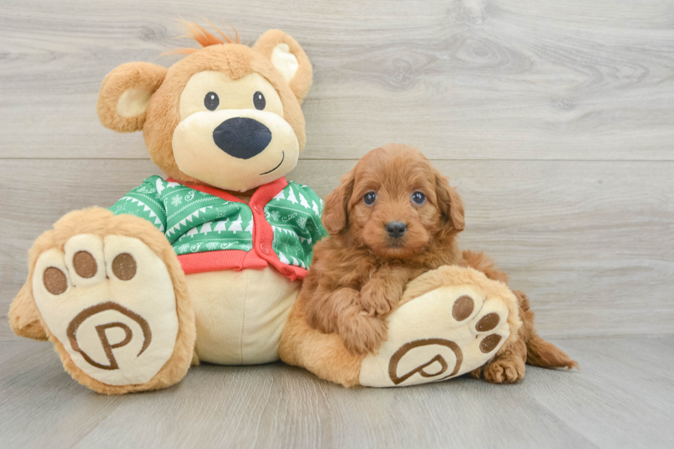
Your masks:
<svg viewBox="0 0 674 449"><path fill-rule="evenodd" d="M310 159L390 141L436 159L673 160L666 0L21 0L0 10L0 157L146 158L96 119L121 63L191 46L178 16L268 28L314 63Z"/></svg>

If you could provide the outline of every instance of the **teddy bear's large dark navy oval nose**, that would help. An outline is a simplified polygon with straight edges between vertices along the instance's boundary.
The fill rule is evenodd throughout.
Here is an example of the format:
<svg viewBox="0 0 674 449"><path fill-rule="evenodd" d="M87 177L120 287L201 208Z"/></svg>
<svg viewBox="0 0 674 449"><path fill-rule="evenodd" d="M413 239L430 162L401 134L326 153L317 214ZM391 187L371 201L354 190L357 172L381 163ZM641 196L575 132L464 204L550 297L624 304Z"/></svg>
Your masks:
<svg viewBox="0 0 674 449"><path fill-rule="evenodd" d="M272 131L252 118L235 117L217 126L213 141L230 156L250 159L267 148L272 141Z"/></svg>

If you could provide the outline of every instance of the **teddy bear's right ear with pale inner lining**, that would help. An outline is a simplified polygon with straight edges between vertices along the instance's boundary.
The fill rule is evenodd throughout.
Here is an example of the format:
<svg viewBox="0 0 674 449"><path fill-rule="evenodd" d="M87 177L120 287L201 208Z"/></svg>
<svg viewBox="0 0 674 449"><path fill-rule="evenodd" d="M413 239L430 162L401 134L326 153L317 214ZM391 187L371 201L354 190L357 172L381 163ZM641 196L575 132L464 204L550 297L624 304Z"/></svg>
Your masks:
<svg viewBox="0 0 674 449"><path fill-rule="evenodd" d="M302 102L312 87L312 64L302 47L281 30L265 32L253 46L272 61L290 85L297 100Z"/></svg>

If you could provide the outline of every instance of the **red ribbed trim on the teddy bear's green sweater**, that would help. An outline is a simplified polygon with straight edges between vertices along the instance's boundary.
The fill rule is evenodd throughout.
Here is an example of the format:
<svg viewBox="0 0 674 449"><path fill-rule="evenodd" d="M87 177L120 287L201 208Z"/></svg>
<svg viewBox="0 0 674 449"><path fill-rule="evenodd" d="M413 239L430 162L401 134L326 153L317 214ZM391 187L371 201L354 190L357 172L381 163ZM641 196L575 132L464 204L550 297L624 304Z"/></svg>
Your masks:
<svg viewBox="0 0 674 449"><path fill-rule="evenodd" d="M168 182L177 182L174 179L167 178ZM182 183L180 183L182 184ZM193 186L191 184L182 184L183 186L199 190L199 192L208 193L214 197L219 197L226 201L236 201L243 203L241 199L234 195L219 190L214 187ZM291 281L303 279L309 272L295 265L286 265L279 260L279 256L272 249L274 243L274 231L272 225L265 219L264 207L273 197L279 194L288 183L285 177L276 179L274 182L259 186L250 198L248 206L253 215L253 248L249 252L243 250L224 250L196 252L193 254L182 254L178 256L178 261L182 265L185 274L213 272L221 270L241 271L246 269L261 270L268 265L279 270L283 276Z"/></svg>

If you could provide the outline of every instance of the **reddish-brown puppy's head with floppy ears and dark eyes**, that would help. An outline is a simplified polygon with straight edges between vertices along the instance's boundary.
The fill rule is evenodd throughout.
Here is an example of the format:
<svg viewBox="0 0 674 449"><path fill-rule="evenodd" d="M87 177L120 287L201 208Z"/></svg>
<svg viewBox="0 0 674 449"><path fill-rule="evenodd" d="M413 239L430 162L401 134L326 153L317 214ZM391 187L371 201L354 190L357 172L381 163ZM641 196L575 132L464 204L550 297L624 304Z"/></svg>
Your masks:
<svg viewBox="0 0 674 449"><path fill-rule="evenodd" d="M325 201L323 224L374 254L403 258L464 228L461 198L415 149L389 144L362 157Z"/></svg>

